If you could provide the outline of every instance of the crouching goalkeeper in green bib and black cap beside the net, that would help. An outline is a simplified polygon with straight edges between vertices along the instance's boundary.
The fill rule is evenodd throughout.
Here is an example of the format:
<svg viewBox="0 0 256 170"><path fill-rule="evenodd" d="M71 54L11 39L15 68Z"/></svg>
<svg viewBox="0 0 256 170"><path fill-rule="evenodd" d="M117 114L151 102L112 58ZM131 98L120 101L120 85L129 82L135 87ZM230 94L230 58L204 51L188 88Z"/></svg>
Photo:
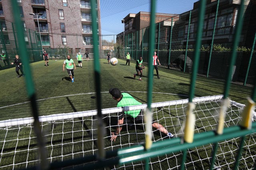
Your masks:
<svg viewBox="0 0 256 170"><path fill-rule="evenodd" d="M118 102L116 107L135 106L142 104L135 100L130 94L121 93L118 88L110 88L109 93L112 95L113 99ZM143 115L141 109L122 111L121 113L118 113L118 123L116 131L111 133L111 141L116 141L117 135L119 135L122 130L122 125L124 124L124 115L126 115L126 118L132 121L134 124L143 124ZM152 127L160 130L160 132L164 133L168 137L174 136L172 133L168 132L161 124L154 120L152 121Z"/></svg>

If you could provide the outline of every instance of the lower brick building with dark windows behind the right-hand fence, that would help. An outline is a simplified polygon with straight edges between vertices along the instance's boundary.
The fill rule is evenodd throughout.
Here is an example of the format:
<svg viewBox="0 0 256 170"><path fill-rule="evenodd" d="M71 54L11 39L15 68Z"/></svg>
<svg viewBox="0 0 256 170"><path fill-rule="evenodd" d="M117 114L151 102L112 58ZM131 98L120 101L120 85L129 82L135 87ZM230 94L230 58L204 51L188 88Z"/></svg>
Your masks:
<svg viewBox="0 0 256 170"><path fill-rule="evenodd" d="M204 27L202 33L202 45L209 46L212 43L212 35L214 29L214 19L217 9L217 0L207 0ZM197 31L197 17L198 17L199 1L194 3L191 11L182 14L158 14L156 13L156 47L161 49L168 49L170 45L170 34L172 28L172 49L185 49L188 40L188 48L194 48ZM240 0L220 0L218 4L218 17L215 26L215 44L222 44L226 47L231 47L234 28L236 26L236 18ZM245 0L244 7L244 25L242 36L240 38L240 46L251 47L253 43L255 28L256 28L256 0ZM191 12L191 14L190 14ZM172 20L173 19L173 20ZM123 32L117 35L116 42L123 44L125 37L125 46L132 46L133 49L141 49L141 45L147 46L148 31L150 24L150 13L139 12L138 14L128 14L123 20L125 24ZM172 27L171 26L172 23ZM190 27L188 27L190 23ZM188 29L189 28L189 29ZM136 38L136 32L138 36ZM132 35L133 33L133 35ZM142 43L142 35L144 41ZM189 39L188 39L189 36ZM146 39L145 39L146 37ZM159 37L159 38L158 38ZM138 42L137 42L138 41ZM134 45L137 43L138 47Z"/></svg>

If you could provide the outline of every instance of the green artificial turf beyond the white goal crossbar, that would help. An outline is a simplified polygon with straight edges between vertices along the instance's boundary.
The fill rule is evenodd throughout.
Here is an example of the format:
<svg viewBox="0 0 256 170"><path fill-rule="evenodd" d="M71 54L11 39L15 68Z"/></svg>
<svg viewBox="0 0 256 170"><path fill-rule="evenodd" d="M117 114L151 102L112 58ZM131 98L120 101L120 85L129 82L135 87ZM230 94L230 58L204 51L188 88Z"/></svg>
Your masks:
<svg viewBox="0 0 256 170"><path fill-rule="evenodd" d="M147 103L148 67L143 70L142 81L138 81L138 76L136 79L133 78L133 74L136 73L135 61L132 61L130 66L126 66L126 61L123 59L118 61L116 66L112 66L107 63L106 59L100 60L102 108L116 106L116 101L108 93L110 88L119 88L122 92L129 92L136 100ZM76 60L75 63L78 65ZM83 68L77 67L74 70L74 83L69 80L66 70L62 71L62 64L63 60L50 60L49 66L44 66L44 61L30 64L36 99L39 100L37 102L39 115L73 112L74 107L76 111L96 109L93 60L83 61ZM2 80L0 82L2 87L0 120L31 117L24 77L17 78L15 68L0 70L0 72ZM160 79L156 78L154 70L153 103L188 98L190 74L163 67L159 67L159 74ZM198 76L195 97L223 94L223 87L224 80ZM232 84L229 97L231 100L244 104L251 91L250 87ZM71 104L74 105L73 108Z"/></svg>

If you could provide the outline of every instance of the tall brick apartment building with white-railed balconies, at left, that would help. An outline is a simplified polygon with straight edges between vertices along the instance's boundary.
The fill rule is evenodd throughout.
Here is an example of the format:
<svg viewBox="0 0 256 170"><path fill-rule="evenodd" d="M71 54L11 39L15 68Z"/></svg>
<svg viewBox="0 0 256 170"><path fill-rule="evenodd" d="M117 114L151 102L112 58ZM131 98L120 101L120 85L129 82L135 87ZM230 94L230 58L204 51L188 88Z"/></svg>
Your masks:
<svg viewBox="0 0 256 170"><path fill-rule="evenodd" d="M42 48L54 49L67 46L71 54L85 52L85 49L92 50L92 16L89 0L17 0L17 2L24 27L40 32ZM9 0L0 0L0 19L4 20L1 22L2 27L6 27L7 30L12 30L12 27L8 28L4 22L14 23L11 6ZM101 34L100 0L97 0L95 6L98 33ZM99 40L99 45L100 43Z"/></svg>

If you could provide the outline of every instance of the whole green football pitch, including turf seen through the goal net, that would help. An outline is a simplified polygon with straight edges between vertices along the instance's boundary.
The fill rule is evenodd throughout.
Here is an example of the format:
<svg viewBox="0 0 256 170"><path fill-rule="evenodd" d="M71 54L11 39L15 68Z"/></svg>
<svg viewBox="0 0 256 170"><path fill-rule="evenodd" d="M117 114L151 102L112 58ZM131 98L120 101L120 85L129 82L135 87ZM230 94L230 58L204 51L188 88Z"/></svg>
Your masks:
<svg viewBox="0 0 256 170"><path fill-rule="evenodd" d="M30 64L32 69L33 82L36 88L38 113L40 116L97 109L93 60L83 61L82 68L78 67L77 61L75 61L75 63L77 65L77 68L76 70L74 70L74 83L70 81L67 71L62 71L63 60L51 60L49 62L49 66L44 66L44 61ZM126 61L124 59L118 59L118 64L116 66L112 66L111 64L108 64L106 59L100 59L100 87L102 109L116 107L116 101L113 100L112 96L108 93L108 90L110 88L119 88L122 92L128 92L129 94L131 94L136 100L138 100L142 104L146 104L148 91L147 64L144 64L146 68L143 70L142 81L139 81L138 77L134 78L133 76L133 74L136 73L135 61L132 61L130 66L126 66L125 63ZM188 98L188 92L190 89L190 74L179 72L176 70L168 70L165 67L159 67L158 70L160 74L160 79L156 77L156 72L154 70L152 103ZM24 77L17 78L15 68L10 68L2 70L0 78L2 80L0 82L0 85L2 87L2 95L0 96L0 120L32 117L30 102L26 93ZM245 104L246 97L250 96L251 91L252 88L250 87L232 84L229 93L230 100ZM213 80L210 78L198 76L195 86L195 97L214 96L223 94L223 92L223 80ZM183 109L181 110L183 111ZM172 116L172 114L170 114L169 116ZM156 119L156 117L154 118ZM162 117L158 118L161 119ZM94 142L90 138L90 135L84 135L84 133L87 132L83 130L77 130L80 128L81 119L79 120L78 118L76 118L76 121L78 123L74 123L74 121L67 121L65 122L65 125L62 121L56 122L56 127L54 126L54 128L51 127L52 125L50 123L44 125L45 129L52 128L52 134L54 134L52 136L46 135L49 144L48 147L56 147L56 149L53 150L53 153L51 153L51 156L49 156L51 158L51 161L61 161L62 159L66 160L68 158L73 158L73 156L69 153L67 154L67 156L63 156L64 158L60 158L59 155L65 154L64 151L68 152L72 150L72 153L73 151L77 152L78 154L76 154L75 157L84 156L87 154L89 155L92 154L92 152L95 152L94 147L92 147L93 149L91 148L91 146L94 145ZM90 123L92 122L90 118L83 118L82 121L85 122L85 127L90 127ZM175 125L172 125L172 123L174 122L173 120L160 120L160 123L162 123L163 121L166 121L166 126L172 126L172 128L175 128ZM29 127L26 128L30 129ZM19 135L25 136L26 133L28 133L29 131L26 130L26 128L20 129ZM128 127L128 129L129 133L131 133L132 135L125 134L124 136L122 136L122 143L121 140L117 140L116 143L112 144L110 143L106 135L106 137L104 138L105 145L107 147L106 150L118 149L122 146L129 147L132 144L135 145L136 143L142 142L136 141L138 139L144 139L144 130L142 128L134 129ZM14 132L13 134L12 132L10 132L10 134L13 135L16 134L16 132ZM0 133L0 135L2 136L5 134ZM94 135L94 137L95 136L96 135ZM32 137L34 137L34 135L32 135ZM78 138L80 139L81 137L83 140L82 145L75 143L76 140L78 140ZM14 149L15 145L18 146L18 150L28 148L27 143L18 143L18 140L16 143L17 134L13 135L12 138L14 138L14 140L5 144L4 151ZM155 141L161 140L161 138L161 134L154 135ZM79 143L81 143L81 141L79 141ZM0 146L2 149L2 144ZM62 147L65 149L63 150ZM33 148L36 148L35 138L30 141L29 148L30 154L28 156L28 160L30 160L30 158L32 159L32 157L35 157L36 155L36 151L33 150ZM204 147L202 148L204 149ZM206 150L208 150L209 153L211 152L211 149L209 147ZM10 153L10 155L12 155L12 153ZM15 161L20 160L21 162L23 162L23 157L24 155L16 155ZM8 162L13 161L12 156L10 156L10 159L6 157L5 159L2 158L2 162L3 160L6 160ZM28 160L27 162L29 162ZM154 160L155 159L152 159L153 162ZM164 162L162 162L160 166L162 166L163 169L167 169L168 160L165 160ZM177 160L177 162L180 162L180 160ZM154 165L154 168L157 168L157 166L158 165ZM15 166L15 168L21 167L24 168L24 165ZM6 166L6 169L10 168L12 168L12 166Z"/></svg>

